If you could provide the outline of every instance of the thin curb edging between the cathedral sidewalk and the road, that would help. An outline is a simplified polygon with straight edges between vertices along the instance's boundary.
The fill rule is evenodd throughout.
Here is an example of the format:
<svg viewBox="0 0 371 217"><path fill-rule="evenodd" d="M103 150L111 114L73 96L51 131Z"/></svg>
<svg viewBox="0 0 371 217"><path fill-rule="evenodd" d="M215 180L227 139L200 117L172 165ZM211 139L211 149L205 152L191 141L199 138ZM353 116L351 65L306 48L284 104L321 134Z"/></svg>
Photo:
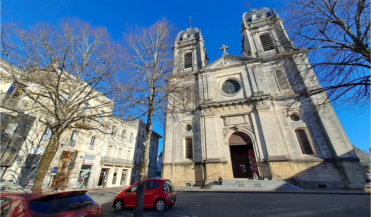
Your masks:
<svg viewBox="0 0 371 217"><path fill-rule="evenodd" d="M301 190L296 190L296 191L177 191L175 190L176 193L257 193L257 194L271 194L271 193L276 193L276 194L338 194L338 195L366 195L365 193L358 193L358 192L308 192L308 191L301 191Z"/></svg>

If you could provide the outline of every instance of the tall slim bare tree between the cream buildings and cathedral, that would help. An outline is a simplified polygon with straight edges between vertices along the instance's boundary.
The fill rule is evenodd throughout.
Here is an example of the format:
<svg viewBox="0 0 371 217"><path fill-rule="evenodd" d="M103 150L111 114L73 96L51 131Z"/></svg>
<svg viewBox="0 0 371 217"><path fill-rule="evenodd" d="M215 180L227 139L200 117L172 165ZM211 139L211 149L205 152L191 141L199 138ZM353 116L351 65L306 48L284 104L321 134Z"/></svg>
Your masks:
<svg viewBox="0 0 371 217"><path fill-rule="evenodd" d="M152 123L164 120L164 112L175 114L175 110L184 109L186 93L193 90L182 79L185 74L173 74L174 64L179 62L172 51L176 33L177 28L162 19L148 28L128 26L124 34L125 70L116 76L118 98L134 118L147 121L135 217L142 216Z"/></svg>

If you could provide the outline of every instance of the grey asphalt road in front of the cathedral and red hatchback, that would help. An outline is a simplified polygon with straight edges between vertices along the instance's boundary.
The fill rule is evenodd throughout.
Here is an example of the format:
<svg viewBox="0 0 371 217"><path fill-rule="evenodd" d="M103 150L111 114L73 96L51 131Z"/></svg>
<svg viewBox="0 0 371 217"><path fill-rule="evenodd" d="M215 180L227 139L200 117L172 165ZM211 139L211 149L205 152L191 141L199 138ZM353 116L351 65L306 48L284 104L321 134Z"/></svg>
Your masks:
<svg viewBox="0 0 371 217"><path fill-rule="evenodd" d="M89 191L103 207L104 217L132 216L111 207L118 189ZM371 197L336 194L188 193L178 192L177 202L162 213L145 209L148 217L359 217L371 216Z"/></svg>

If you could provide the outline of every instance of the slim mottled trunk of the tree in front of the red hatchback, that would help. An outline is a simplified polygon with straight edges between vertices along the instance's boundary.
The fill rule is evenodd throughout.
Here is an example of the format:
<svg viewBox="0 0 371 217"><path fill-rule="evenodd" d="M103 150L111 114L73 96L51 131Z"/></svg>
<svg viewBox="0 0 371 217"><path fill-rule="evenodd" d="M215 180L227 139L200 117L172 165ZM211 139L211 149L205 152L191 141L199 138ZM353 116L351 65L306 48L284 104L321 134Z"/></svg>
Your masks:
<svg viewBox="0 0 371 217"><path fill-rule="evenodd" d="M143 203L144 203L144 188L145 188L145 180L148 176L148 164L150 159L150 147L151 147L151 133L152 133L152 116L153 116L154 108L150 104L148 106L148 116L147 116L147 125L145 126L146 134L145 134L145 143L143 148L143 159L142 159L142 166L139 173L139 184L137 188L137 203L134 209L134 217L142 217L143 216Z"/></svg>

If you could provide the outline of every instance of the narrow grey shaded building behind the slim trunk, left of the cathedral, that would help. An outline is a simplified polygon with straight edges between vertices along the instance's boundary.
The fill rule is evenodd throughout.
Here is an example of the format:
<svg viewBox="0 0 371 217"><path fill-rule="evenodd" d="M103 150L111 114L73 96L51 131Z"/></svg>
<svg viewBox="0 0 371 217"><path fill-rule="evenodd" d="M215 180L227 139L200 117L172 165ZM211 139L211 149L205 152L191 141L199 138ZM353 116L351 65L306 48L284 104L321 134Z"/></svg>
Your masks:
<svg viewBox="0 0 371 217"><path fill-rule="evenodd" d="M134 168L131 173L131 181L133 184L139 180L140 168L142 166L143 159L143 145L145 141L145 123L141 120L138 120L138 136L136 138L135 153L134 153ZM151 134L151 146L150 146L150 161L148 164L148 177L156 176L156 167L157 167L157 153L158 153L158 140L162 136L155 131L152 131Z"/></svg>

